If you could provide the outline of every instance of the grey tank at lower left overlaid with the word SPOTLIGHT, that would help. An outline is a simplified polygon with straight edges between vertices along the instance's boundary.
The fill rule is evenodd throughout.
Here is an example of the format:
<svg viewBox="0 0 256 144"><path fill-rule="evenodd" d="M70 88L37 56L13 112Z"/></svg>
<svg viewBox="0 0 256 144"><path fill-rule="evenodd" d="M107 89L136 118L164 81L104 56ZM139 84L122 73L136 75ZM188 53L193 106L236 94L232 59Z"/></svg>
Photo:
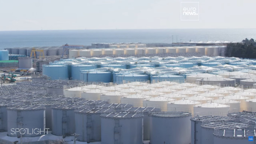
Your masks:
<svg viewBox="0 0 256 144"><path fill-rule="evenodd" d="M44 106L20 105L8 107L7 120L8 136L20 137L22 134L25 137L34 137L47 133Z"/></svg>

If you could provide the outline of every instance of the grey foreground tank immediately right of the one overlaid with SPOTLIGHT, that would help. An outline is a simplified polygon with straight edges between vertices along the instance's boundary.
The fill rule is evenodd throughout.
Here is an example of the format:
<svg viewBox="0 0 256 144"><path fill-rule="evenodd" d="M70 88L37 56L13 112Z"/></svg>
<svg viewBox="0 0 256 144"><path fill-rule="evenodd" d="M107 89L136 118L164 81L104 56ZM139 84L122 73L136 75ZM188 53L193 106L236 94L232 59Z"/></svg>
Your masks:
<svg viewBox="0 0 256 144"><path fill-rule="evenodd" d="M88 107L88 106L87 106ZM56 105L52 107L52 134L67 136L75 133L75 110L85 105Z"/></svg>

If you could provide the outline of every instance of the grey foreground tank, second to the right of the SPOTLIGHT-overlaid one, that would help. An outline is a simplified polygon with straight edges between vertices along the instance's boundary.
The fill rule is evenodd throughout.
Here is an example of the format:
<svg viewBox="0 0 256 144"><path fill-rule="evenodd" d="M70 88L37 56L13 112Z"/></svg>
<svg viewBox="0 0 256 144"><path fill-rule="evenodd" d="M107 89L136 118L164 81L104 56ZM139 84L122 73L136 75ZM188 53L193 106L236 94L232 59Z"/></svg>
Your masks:
<svg viewBox="0 0 256 144"><path fill-rule="evenodd" d="M109 108L87 108L75 110L75 132L78 141L87 143L101 141L101 113Z"/></svg>

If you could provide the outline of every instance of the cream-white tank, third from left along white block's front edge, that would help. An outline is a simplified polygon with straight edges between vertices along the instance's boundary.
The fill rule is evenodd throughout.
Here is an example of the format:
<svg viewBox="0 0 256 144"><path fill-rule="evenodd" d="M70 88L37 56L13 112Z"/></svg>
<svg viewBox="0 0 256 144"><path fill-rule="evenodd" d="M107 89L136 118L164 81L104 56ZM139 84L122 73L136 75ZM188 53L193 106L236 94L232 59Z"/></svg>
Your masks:
<svg viewBox="0 0 256 144"><path fill-rule="evenodd" d="M123 92L107 92L100 95L100 100L105 100L109 103L120 103L121 97L129 94Z"/></svg>

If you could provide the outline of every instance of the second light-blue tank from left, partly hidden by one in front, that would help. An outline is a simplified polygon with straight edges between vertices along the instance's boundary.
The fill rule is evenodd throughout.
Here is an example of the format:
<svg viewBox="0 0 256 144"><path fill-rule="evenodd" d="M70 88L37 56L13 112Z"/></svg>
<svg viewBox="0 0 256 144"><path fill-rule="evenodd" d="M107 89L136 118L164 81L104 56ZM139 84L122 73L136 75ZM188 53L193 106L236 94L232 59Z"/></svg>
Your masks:
<svg viewBox="0 0 256 144"><path fill-rule="evenodd" d="M71 67L71 76L72 80L83 80L81 79L81 71L80 70L91 70L96 68L96 65L72 65Z"/></svg>

